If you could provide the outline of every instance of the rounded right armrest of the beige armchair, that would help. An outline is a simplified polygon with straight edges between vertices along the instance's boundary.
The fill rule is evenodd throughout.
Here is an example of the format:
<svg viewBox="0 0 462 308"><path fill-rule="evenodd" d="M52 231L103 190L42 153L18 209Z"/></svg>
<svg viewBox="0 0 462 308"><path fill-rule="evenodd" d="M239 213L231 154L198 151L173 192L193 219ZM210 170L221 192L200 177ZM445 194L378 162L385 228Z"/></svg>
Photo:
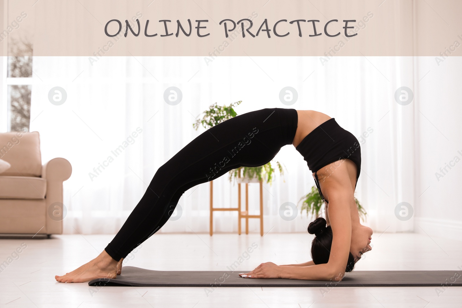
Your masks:
<svg viewBox="0 0 462 308"><path fill-rule="evenodd" d="M46 226L41 233L62 234L63 213L63 189L62 182L72 174L71 163L65 158L51 159L42 166L42 178L47 180L47 192L45 195ZM58 207L57 207L58 206ZM57 211L56 211L57 210Z"/></svg>

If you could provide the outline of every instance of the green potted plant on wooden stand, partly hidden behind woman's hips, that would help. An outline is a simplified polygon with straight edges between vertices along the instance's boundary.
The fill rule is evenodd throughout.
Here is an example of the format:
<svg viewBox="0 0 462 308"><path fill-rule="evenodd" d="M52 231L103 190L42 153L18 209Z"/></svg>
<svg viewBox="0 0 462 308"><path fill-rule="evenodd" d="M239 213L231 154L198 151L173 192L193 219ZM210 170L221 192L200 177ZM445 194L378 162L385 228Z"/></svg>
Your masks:
<svg viewBox="0 0 462 308"><path fill-rule="evenodd" d="M242 103L242 101L237 101L231 103L229 106L223 105L219 106L217 103L214 103L209 107L208 110L204 111L201 115L201 119L197 119L193 124L193 127L197 130L200 126L209 129L215 125L231 119L237 115L234 107ZM234 178L237 181L244 182L259 182L265 180L267 183L271 183L274 178L276 171L279 171L281 175L284 174L281 163L277 161L271 161L263 166L259 167L239 167L233 169L229 172L230 181ZM240 175L240 176L239 176Z"/></svg>

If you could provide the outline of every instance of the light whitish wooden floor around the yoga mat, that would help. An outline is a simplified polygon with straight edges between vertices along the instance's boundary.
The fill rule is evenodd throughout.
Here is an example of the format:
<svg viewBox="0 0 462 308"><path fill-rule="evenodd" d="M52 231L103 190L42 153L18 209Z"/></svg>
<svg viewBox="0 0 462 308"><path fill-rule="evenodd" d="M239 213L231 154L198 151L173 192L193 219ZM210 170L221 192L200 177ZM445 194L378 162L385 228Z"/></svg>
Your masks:
<svg viewBox="0 0 462 308"><path fill-rule="evenodd" d="M17 260L0 273L0 307L462 307L462 287L442 293L436 287L204 288L89 287L62 284L69 272L97 256L112 239L107 235L65 235L52 239L1 239L0 262L26 243ZM308 234L156 234L126 265L156 270L226 270L256 243L239 272L261 262L310 260ZM372 236L373 250L356 270L456 270L462 268L462 242L421 234ZM247 257L244 254L244 257ZM462 278L459 278L462 279Z"/></svg>

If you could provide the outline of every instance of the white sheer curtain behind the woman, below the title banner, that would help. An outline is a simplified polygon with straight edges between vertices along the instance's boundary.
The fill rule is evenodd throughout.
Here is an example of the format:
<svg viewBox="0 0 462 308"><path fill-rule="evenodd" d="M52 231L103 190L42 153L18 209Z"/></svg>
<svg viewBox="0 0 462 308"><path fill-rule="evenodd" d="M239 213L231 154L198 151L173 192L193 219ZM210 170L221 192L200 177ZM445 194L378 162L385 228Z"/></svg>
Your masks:
<svg viewBox="0 0 462 308"><path fill-rule="evenodd" d="M334 117L361 141L362 171L356 196L376 231L413 229L401 222L395 206L413 204L413 104L395 102L397 88L413 88L413 58L334 57L34 57L31 131L41 134L42 159L65 157L73 166L64 183L65 233L115 233L138 203L158 167L204 131L192 123L212 103L229 104L243 114L262 108L314 109ZM67 92L60 106L49 102L52 87ZM176 86L182 101L164 102L166 88ZM298 101L282 104L285 86ZM138 128L139 127L139 128ZM136 137L130 139L133 132ZM372 133L360 139L364 132ZM124 144L124 141L127 141ZM122 153L115 156L120 145ZM126 145L126 147L124 147ZM104 161L112 157L113 161ZM287 145L276 160L283 178L264 185L265 232L306 230L310 217L292 221L279 216L285 202L297 204L314 185L303 157ZM91 178L89 173L95 176ZM214 181L215 206L237 206L237 186L227 175ZM258 185L250 184L250 213L258 211ZM209 184L193 187L179 201L182 216L159 232L208 232ZM300 205L299 205L300 208ZM216 232L236 232L237 213L215 213ZM258 220L250 219L258 231Z"/></svg>

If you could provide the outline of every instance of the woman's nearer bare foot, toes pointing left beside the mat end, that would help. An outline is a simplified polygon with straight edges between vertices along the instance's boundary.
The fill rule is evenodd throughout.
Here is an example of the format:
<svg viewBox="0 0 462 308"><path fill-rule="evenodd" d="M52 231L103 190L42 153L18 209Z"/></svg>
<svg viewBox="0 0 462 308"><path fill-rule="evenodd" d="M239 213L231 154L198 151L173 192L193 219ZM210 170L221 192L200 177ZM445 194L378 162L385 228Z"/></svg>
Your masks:
<svg viewBox="0 0 462 308"><path fill-rule="evenodd" d="M96 278L116 278L119 262L103 250L95 259L66 275L56 275L55 279L59 282L85 282Z"/></svg>

